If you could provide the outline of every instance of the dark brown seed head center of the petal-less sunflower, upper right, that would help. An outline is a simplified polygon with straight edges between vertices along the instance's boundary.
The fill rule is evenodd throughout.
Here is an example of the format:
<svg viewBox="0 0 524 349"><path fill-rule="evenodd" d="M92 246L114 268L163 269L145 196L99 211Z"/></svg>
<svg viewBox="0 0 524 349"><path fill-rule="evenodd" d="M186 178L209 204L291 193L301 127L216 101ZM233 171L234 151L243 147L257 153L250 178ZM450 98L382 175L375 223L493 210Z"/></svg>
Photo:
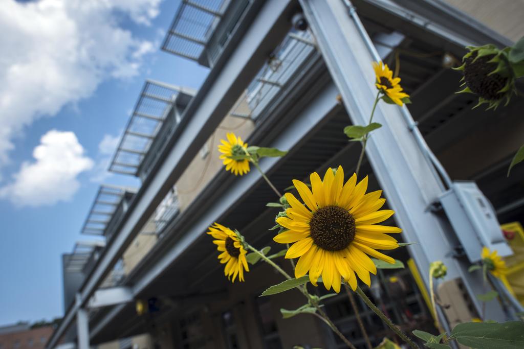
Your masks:
<svg viewBox="0 0 524 349"><path fill-rule="evenodd" d="M498 73L488 75L497 68L497 63L488 63L495 57L495 54L489 54L478 58L477 52L465 60L464 80L471 91L487 100L498 100L504 96L504 93L498 93L508 82L508 78Z"/></svg>

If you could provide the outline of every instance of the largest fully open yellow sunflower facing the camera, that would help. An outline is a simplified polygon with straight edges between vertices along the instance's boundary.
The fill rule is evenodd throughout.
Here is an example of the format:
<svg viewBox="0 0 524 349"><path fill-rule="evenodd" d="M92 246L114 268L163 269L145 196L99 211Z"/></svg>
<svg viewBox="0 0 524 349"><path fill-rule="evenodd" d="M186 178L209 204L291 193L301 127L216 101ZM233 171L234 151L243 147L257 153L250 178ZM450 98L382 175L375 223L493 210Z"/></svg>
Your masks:
<svg viewBox="0 0 524 349"><path fill-rule="evenodd" d="M376 249L392 250L398 247L397 240L385 233L400 233L397 227L379 226L394 211L379 210L386 199L381 199L381 190L366 193L367 176L356 184L356 175L344 184L342 166L333 174L328 168L324 180L318 173L310 176L312 191L304 183L293 180L305 206L293 194L286 193L291 208L287 217L277 219L278 224L289 229L273 240L293 243L286 258L297 258L295 276L309 272L309 279L316 286L322 275L326 289L340 291L341 277L353 290L358 277L370 285L369 273L376 274L377 268L368 255L394 263L390 256Z"/></svg>

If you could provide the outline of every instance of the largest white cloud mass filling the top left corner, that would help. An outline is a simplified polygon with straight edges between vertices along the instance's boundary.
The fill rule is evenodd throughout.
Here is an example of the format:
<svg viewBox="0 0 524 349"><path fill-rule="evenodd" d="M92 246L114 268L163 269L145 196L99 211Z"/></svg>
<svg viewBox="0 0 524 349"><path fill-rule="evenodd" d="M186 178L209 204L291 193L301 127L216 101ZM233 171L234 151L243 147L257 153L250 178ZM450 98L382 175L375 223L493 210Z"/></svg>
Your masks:
<svg viewBox="0 0 524 349"><path fill-rule="evenodd" d="M0 1L0 165L36 118L91 96L107 78L138 74L154 46L118 20L149 25L160 1Z"/></svg>

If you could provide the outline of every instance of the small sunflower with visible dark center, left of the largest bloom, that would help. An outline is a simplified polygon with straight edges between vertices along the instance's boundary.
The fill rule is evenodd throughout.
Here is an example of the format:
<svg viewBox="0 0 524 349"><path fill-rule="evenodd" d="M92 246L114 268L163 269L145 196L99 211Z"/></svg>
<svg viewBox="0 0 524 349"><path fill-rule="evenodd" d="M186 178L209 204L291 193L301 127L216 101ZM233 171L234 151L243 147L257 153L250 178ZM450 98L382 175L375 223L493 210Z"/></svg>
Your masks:
<svg viewBox="0 0 524 349"><path fill-rule="evenodd" d="M222 226L222 224L215 223L209 227L208 234L217 239L213 240L213 243L217 245L216 249L222 252L219 255L219 260L221 264L226 265L224 275L232 283L235 282L237 276L238 280L244 281L244 270L249 272L246 260L247 251L242 246L235 232Z"/></svg>

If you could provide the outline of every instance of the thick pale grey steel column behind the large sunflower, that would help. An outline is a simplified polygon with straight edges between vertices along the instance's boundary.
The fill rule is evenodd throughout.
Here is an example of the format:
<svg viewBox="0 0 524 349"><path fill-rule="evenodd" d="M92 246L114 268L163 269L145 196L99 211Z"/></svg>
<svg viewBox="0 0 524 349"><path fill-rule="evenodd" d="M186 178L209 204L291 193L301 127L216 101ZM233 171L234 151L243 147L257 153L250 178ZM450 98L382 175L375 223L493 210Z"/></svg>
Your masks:
<svg viewBox="0 0 524 349"><path fill-rule="evenodd" d="M367 125L377 94L372 62L380 60L373 42L354 8L346 7L341 0L300 3L353 124ZM403 229L403 238L418 242L408 248L425 284L429 279L424 271L432 261L441 260L448 268L447 279L462 278L474 295L474 291L482 289L482 280L467 272L469 263L464 258L454 257L454 248L459 246L454 231L446 220L428 209L443 193L443 183L435 173L431 156L423 149L427 145L417 136L419 131L413 127L409 111L379 103L374 120L383 127L367 142L366 154L389 205L396 211L394 217ZM480 311L474 296L472 300ZM495 303L487 304L489 317L504 320Z"/></svg>

